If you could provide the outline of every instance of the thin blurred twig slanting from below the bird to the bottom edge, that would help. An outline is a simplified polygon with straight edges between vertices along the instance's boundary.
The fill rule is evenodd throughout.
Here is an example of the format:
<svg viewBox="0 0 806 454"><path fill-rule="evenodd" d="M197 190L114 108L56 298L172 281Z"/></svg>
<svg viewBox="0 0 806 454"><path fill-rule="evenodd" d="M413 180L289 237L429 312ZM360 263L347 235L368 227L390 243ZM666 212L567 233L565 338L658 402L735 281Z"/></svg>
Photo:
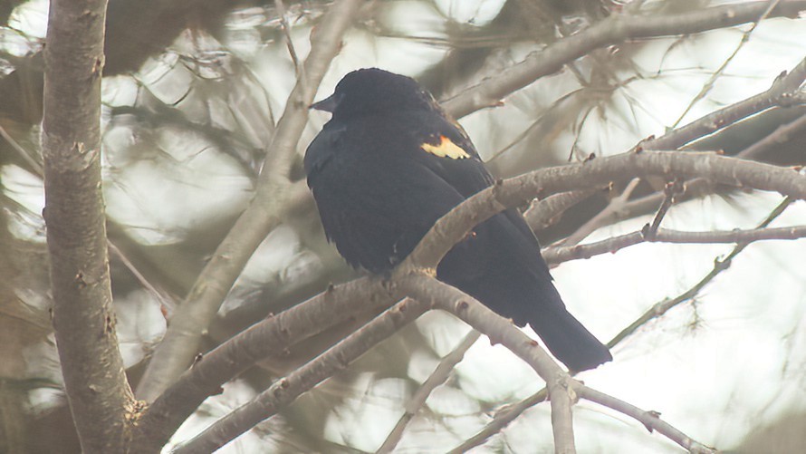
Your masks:
<svg viewBox="0 0 806 454"><path fill-rule="evenodd" d="M446 382L448 376L454 371L456 364L465 358L465 353L470 350L470 347L473 346L479 337L481 337L481 333L471 330L470 333L465 335L465 339L456 345L456 348L451 353L446 354L445 358L437 364L437 368L434 369L434 372L431 372L431 375L428 376L426 381L423 382L423 384L417 388L414 395L411 396L411 399L406 404L406 410L403 412L403 415L400 416L398 423L389 432L389 436L376 451L378 454L392 452L395 447L398 446L398 442L403 438L403 432L406 430L408 422L414 419L420 409L425 407L428 396L431 395L431 391L434 391L437 389L437 386Z"/></svg>

